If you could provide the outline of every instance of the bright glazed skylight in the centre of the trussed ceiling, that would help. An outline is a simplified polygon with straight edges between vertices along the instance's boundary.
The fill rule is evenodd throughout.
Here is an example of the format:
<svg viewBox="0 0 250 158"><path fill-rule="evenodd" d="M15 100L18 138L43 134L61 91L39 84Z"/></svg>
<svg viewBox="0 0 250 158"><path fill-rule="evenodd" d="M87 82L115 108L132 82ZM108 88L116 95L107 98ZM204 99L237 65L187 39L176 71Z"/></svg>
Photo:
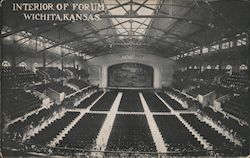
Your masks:
<svg viewBox="0 0 250 158"><path fill-rule="evenodd" d="M104 0L106 8L111 15L124 15L112 17L119 39L143 39L152 21L151 18L126 18L126 15L153 15L156 9L156 0Z"/></svg>

